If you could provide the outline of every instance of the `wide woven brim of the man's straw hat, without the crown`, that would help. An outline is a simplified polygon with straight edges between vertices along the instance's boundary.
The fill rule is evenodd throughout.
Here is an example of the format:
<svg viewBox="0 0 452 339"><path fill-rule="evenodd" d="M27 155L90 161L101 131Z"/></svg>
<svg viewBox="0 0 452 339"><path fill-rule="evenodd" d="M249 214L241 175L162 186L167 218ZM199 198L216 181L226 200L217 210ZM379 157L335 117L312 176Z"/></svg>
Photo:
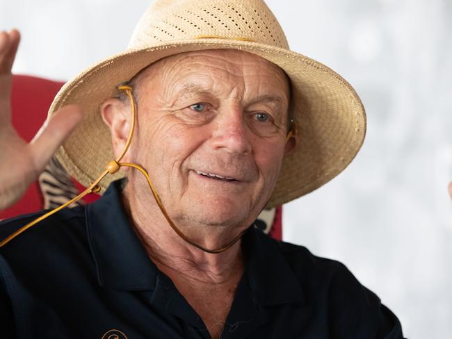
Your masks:
<svg viewBox="0 0 452 339"><path fill-rule="evenodd" d="M350 84L332 69L302 54L256 42L197 39L129 49L107 58L66 83L49 109L49 117L67 104L81 106L85 117L56 154L67 172L90 185L113 159L111 132L99 114L115 95L115 86L141 69L177 53L205 49L240 49L266 58L286 72L293 90L298 144L284 157L280 176L266 207L306 195L342 172L364 141L366 115ZM152 169L148 169L152 170ZM123 172L106 176L101 194Z"/></svg>

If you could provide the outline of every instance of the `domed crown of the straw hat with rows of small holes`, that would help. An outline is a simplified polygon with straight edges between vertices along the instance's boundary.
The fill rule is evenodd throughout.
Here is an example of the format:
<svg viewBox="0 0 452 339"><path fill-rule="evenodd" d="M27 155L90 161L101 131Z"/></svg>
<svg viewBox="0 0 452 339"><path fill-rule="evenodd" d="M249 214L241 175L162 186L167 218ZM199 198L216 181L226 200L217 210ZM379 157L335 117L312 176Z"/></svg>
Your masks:
<svg viewBox="0 0 452 339"><path fill-rule="evenodd" d="M138 22L129 48L193 38L250 40L289 49L280 24L261 0L157 0Z"/></svg>

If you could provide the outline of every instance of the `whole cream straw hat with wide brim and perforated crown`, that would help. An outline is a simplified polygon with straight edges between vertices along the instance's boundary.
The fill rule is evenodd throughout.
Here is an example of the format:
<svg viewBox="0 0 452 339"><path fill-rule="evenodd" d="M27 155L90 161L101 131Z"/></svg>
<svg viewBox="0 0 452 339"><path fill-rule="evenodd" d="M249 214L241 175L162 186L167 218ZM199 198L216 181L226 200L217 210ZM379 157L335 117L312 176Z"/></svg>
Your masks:
<svg viewBox="0 0 452 339"><path fill-rule="evenodd" d="M57 153L67 172L89 185L113 159L111 133L99 106L117 94L118 83L156 60L202 49L254 53L281 67L291 80L299 142L283 160L267 207L312 192L353 160L366 131L360 98L339 74L289 50L280 24L264 1L156 0L138 22L126 51L86 69L54 99L49 116L67 104L79 104L86 113ZM121 176L121 171L107 176L101 193Z"/></svg>

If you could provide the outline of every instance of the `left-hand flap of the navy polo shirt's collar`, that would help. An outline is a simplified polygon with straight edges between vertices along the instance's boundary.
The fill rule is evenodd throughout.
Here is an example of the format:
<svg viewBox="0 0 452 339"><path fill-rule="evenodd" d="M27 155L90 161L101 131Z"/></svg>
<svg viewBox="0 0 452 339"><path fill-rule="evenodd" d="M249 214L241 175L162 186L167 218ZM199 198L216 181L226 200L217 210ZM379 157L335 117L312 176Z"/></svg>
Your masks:
<svg viewBox="0 0 452 339"><path fill-rule="evenodd" d="M121 181L86 207L86 229L101 286L117 290L152 290L158 270L141 245L121 197Z"/></svg>

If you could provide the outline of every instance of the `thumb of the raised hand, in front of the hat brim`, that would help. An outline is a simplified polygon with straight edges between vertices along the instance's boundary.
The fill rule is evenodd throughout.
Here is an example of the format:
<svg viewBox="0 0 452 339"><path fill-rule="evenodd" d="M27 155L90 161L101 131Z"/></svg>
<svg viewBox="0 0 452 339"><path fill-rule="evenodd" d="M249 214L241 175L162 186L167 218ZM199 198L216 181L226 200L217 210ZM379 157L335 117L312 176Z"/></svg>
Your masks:
<svg viewBox="0 0 452 339"><path fill-rule="evenodd" d="M83 113L79 106L68 105L58 110L49 122L41 127L29 144L37 172L41 172L49 163L56 149L70 135L82 117Z"/></svg>

